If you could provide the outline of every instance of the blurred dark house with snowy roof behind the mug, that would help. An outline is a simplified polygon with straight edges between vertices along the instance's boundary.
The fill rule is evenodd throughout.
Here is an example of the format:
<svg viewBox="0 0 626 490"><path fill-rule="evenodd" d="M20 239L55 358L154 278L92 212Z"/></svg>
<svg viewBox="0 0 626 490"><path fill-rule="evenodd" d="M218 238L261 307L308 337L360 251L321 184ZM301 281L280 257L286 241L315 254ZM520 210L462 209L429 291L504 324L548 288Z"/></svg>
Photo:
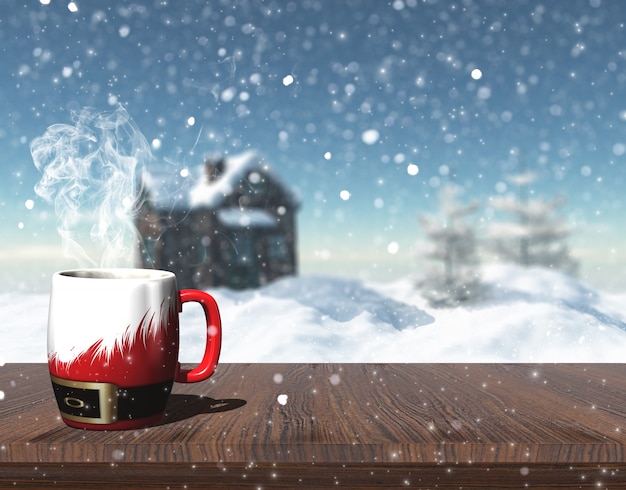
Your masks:
<svg viewBox="0 0 626 490"><path fill-rule="evenodd" d="M143 176L140 266L180 288L254 288L297 273L299 201L254 152Z"/></svg>

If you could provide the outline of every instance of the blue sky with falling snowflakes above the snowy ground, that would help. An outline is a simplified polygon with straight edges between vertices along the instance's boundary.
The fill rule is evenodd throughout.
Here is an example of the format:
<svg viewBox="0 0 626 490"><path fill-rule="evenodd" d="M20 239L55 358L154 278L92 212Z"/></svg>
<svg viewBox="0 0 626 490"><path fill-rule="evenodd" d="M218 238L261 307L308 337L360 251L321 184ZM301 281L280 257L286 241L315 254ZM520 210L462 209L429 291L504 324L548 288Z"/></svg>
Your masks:
<svg viewBox="0 0 626 490"><path fill-rule="evenodd" d="M3 10L3 289L39 284L63 264L29 143L72 110L119 104L152 145L149 168L178 175L205 155L261 152L301 196L303 272L419 272L418 217L436 209L439 186L454 175L480 200L483 229L489 197L514 190L506 176L523 158L538 175L533 195L567 197L583 279L626 288L620 1L50 0Z"/></svg>

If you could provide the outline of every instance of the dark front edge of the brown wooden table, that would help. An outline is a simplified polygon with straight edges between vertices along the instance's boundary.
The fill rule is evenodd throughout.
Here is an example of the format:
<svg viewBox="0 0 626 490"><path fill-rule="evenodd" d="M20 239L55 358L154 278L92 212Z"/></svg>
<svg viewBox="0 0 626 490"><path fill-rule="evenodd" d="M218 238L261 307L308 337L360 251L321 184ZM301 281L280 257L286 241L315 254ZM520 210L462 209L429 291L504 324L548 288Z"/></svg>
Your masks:
<svg viewBox="0 0 626 490"><path fill-rule="evenodd" d="M43 464L0 469L0 488L621 489L622 466L433 464Z"/></svg>

